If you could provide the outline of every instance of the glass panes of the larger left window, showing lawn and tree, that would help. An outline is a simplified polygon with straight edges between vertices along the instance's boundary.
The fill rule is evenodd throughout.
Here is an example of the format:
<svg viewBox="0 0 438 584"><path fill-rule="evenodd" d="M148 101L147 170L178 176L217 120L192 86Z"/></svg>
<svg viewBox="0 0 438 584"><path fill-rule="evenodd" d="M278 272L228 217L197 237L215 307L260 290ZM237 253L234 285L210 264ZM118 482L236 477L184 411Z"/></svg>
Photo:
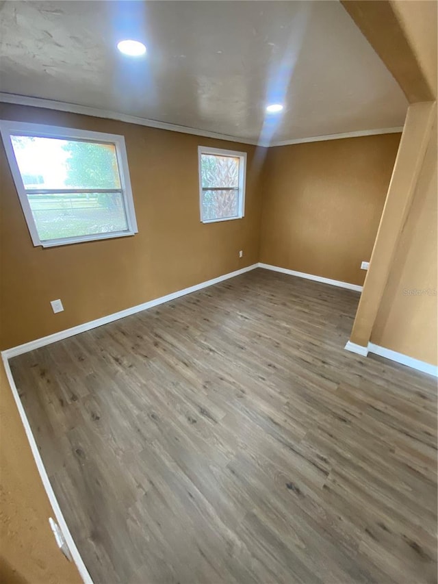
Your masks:
<svg viewBox="0 0 438 584"><path fill-rule="evenodd" d="M128 229L114 144L34 136L11 140L40 240Z"/></svg>

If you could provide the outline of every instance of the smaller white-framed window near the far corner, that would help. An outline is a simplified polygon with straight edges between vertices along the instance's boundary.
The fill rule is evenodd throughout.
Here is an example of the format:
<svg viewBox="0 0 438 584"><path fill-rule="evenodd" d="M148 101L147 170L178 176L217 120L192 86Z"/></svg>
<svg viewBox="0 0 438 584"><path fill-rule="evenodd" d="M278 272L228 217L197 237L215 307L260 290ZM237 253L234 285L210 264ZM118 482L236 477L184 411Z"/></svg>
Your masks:
<svg viewBox="0 0 438 584"><path fill-rule="evenodd" d="M244 216L246 152L198 147L201 221Z"/></svg>

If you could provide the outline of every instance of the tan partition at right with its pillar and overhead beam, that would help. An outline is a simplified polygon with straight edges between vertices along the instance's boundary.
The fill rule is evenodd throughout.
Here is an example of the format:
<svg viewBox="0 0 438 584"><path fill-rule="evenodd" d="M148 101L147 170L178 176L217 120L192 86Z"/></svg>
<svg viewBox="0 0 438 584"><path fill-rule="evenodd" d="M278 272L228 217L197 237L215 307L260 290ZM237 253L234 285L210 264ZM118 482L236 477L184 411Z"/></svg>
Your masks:
<svg viewBox="0 0 438 584"><path fill-rule="evenodd" d="M437 3L342 3L411 102L350 339L437 364Z"/></svg>

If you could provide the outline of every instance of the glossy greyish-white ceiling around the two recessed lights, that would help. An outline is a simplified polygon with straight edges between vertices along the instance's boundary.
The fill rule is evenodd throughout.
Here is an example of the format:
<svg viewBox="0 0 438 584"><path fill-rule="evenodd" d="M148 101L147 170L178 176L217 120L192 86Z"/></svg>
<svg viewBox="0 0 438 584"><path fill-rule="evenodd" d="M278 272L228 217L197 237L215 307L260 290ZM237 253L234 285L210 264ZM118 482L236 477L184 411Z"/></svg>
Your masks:
<svg viewBox="0 0 438 584"><path fill-rule="evenodd" d="M334 0L5 1L0 17L2 92L263 143L404 123L402 90ZM123 38L146 58L118 53Z"/></svg>

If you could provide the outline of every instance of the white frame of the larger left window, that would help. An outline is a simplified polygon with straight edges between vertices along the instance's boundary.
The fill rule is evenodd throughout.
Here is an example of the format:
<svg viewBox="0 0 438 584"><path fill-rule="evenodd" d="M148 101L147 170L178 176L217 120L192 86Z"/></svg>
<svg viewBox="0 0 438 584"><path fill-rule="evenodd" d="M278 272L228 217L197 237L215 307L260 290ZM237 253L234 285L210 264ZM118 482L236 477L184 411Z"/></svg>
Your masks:
<svg viewBox="0 0 438 584"><path fill-rule="evenodd" d="M133 203L131 179L129 177L128 157L125 146L125 137L118 134L104 134L103 132L96 132L90 130L52 126L45 124L34 124L27 122L16 122L13 120L0 120L0 134L5 147L6 157L14 179L18 199L23 209L23 214L27 223L27 228L31 236L34 246L55 247L61 245L68 245L73 243L83 243L96 240L114 239L120 237L133 236L138 233L136 211ZM107 233L93 233L90 235L75 236L68 238L59 238L52 240L40 240L38 229L34 216L31 211L29 199L27 199L27 190L21 177L18 162L16 161L14 148L12 146L11 136L34 136L35 138L55 138L58 140L75 140L77 142L99 142L100 144L114 144L116 149L116 159L118 165L118 173L120 177L120 190L123 205L125 207L125 215L127 219L127 231L109 231ZM32 189L32 191L45 190L53 192L55 189ZM56 192L109 192L112 189L57 189Z"/></svg>

